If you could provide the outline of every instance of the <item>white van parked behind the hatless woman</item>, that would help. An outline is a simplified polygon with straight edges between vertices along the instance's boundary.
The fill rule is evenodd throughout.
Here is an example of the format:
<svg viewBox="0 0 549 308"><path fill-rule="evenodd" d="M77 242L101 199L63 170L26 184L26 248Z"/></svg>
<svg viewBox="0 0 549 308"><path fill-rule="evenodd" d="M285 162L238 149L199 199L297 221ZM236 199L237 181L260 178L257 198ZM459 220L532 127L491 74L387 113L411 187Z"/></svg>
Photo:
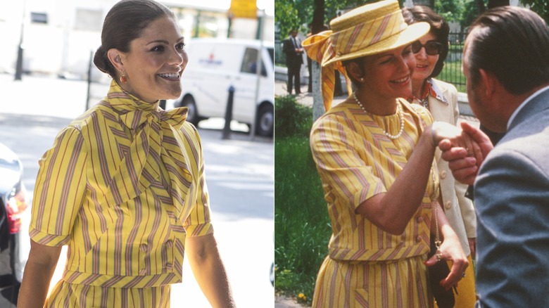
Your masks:
<svg viewBox="0 0 549 308"><path fill-rule="evenodd" d="M263 42L258 83L255 67L260 46L258 40L190 39L185 46L189 63L181 79L182 95L168 101L167 107L187 106L187 120L193 124L208 117L225 117L229 87L233 86L232 119L248 125L255 123L256 134L272 136L274 44Z"/></svg>

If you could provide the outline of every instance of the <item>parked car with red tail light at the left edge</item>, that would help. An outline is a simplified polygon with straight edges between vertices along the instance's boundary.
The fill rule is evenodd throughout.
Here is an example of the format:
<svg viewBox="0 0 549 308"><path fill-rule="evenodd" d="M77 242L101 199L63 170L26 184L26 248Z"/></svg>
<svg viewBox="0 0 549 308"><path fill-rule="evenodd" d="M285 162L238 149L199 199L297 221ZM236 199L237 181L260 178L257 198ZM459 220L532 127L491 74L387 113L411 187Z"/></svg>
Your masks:
<svg viewBox="0 0 549 308"><path fill-rule="evenodd" d="M23 164L0 143L0 276L11 276L13 284L21 283L30 250L27 203Z"/></svg>

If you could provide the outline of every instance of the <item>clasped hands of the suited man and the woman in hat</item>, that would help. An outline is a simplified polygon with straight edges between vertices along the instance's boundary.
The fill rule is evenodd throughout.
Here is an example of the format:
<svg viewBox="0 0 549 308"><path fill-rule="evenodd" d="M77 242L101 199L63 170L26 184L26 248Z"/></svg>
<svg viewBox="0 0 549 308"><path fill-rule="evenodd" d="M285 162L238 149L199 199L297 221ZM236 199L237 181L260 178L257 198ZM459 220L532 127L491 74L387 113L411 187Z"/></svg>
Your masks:
<svg viewBox="0 0 549 308"><path fill-rule="evenodd" d="M461 122L460 125L461 129L446 122L434 122L431 125L431 136L434 146L442 151L441 158L448 162L455 179L473 185L493 144L480 129L467 122Z"/></svg>

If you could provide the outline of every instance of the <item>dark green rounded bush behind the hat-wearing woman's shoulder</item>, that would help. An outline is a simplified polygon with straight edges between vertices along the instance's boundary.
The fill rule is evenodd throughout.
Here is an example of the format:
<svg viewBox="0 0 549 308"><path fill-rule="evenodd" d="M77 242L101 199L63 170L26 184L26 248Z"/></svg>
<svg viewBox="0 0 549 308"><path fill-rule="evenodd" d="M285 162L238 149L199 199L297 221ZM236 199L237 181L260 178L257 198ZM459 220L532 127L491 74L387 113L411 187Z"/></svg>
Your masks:
<svg viewBox="0 0 549 308"><path fill-rule="evenodd" d="M309 136L313 126L313 109L296 101L296 96L277 96L274 98L275 131L277 139L287 136Z"/></svg>

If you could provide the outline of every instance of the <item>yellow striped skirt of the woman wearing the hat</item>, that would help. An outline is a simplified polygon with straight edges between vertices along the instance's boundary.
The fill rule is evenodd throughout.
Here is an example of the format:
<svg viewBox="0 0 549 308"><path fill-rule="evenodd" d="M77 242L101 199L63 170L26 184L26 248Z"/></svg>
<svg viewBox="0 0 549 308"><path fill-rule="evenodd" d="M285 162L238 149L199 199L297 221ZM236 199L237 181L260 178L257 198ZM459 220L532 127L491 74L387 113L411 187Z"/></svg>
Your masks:
<svg viewBox="0 0 549 308"><path fill-rule="evenodd" d="M386 262L324 259L313 307L433 307L427 284L427 255Z"/></svg>

